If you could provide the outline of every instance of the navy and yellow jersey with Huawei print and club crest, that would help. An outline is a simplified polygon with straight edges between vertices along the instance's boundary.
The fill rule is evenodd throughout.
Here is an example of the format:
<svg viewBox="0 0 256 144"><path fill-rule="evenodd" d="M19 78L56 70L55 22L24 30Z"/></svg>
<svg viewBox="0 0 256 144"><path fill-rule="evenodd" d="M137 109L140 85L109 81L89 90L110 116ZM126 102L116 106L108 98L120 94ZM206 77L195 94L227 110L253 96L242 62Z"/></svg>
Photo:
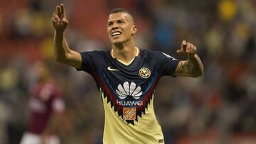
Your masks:
<svg viewBox="0 0 256 144"><path fill-rule="evenodd" d="M164 75L173 75L179 60L138 49L129 62L111 50L81 52L82 68L95 79L105 109L104 144L164 144L154 113L154 89Z"/></svg>

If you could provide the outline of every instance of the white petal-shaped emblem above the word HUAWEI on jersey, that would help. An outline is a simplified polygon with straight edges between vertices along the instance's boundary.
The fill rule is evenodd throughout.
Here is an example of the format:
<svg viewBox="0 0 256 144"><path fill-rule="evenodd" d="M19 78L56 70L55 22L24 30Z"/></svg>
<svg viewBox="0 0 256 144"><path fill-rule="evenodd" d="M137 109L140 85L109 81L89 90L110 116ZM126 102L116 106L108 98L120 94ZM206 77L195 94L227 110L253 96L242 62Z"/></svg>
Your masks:
<svg viewBox="0 0 256 144"><path fill-rule="evenodd" d="M136 86L134 82L124 82L123 85L119 84L116 89L117 94L120 99L125 99L127 96L132 96L134 99L139 99L139 96L142 95L142 88Z"/></svg>

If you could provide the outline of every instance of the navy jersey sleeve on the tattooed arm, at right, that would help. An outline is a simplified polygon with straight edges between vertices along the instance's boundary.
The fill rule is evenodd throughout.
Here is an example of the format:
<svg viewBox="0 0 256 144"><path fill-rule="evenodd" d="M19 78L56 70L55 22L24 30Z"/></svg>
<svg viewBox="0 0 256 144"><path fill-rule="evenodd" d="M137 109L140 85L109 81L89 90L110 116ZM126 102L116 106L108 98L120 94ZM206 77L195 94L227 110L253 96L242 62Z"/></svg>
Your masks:
<svg viewBox="0 0 256 144"><path fill-rule="evenodd" d="M176 58L159 51L154 52L154 57L156 58L156 69L161 76L171 75L172 77L175 77L174 72L178 62L181 60L177 60Z"/></svg>

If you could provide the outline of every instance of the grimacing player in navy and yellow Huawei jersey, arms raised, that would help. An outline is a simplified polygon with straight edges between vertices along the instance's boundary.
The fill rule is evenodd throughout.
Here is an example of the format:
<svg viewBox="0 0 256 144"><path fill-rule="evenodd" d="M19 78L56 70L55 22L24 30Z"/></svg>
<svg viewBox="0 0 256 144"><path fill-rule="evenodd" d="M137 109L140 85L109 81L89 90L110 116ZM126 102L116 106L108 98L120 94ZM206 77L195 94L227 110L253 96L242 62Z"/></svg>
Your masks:
<svg viewBox="0 0 256 144"><path fill-rule="evenodd" d="M203 65L196 46L185 40L177 52L187 60L134 45L137 26L125 9L113 9L107 20L112 48L76 52L68 47L68 20L63 4L53 13L55 60L92 75L105 109L105 144L164 143L153 109L154 89L164 75L199 77Z"/></svg>

